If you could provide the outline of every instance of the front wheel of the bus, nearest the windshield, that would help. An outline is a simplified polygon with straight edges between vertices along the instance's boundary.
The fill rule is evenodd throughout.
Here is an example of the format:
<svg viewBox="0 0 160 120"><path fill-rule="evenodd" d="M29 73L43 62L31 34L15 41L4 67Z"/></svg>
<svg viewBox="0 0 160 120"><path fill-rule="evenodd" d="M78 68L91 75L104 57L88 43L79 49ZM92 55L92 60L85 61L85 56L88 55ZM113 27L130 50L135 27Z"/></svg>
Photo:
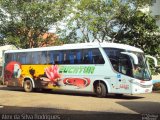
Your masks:
<svg viewBox="0 0 160 120"><path fill-rule="evenodd" d="M97 97L106 97L107 95L107 89L106 86L103 83L97 83L95 85L95 93L97 95Z"/></svg>

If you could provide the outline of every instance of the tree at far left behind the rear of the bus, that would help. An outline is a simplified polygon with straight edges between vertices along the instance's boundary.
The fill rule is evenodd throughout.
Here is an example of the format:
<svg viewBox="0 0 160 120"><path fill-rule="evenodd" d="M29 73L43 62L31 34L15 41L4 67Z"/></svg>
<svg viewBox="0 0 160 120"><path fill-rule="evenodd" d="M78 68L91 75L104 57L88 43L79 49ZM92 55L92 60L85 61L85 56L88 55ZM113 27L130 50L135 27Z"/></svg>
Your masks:
<svg viewBox="0 0 160 120"><path fill-rule="evenodd" d="M0 44L39 47L40 36L66 16L68 5L70 0L0 0Z"/></svg>

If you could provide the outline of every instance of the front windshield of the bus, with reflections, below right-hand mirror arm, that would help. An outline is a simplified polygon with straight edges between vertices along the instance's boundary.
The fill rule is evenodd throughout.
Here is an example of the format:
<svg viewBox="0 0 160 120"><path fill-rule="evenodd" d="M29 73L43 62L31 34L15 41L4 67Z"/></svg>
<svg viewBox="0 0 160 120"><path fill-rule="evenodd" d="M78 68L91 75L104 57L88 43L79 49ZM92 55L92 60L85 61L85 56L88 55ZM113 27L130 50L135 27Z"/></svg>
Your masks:
<svg viewBox="0 0 160 120"><path fill-rule="evenodd" d="M138 57L138 64L134 65L133 76L141 80L150 80L151 75L149 73L145 58L142 53L134 53Z"/></svg>

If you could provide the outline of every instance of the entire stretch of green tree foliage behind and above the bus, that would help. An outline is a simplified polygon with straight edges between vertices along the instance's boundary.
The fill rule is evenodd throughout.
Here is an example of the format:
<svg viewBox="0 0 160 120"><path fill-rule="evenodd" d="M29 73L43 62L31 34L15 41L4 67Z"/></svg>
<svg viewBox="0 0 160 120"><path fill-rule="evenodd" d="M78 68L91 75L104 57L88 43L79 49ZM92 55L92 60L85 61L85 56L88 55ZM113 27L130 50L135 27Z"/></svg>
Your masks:
<svg viewBox="0 0 160 120"><path fill-rule="evenodd" d="M140 11L150 4L151 0L0 0L0 44L38 47L44 42L40 36L55 26L63 43L118 42L160 56L155 20Z"/></svg>

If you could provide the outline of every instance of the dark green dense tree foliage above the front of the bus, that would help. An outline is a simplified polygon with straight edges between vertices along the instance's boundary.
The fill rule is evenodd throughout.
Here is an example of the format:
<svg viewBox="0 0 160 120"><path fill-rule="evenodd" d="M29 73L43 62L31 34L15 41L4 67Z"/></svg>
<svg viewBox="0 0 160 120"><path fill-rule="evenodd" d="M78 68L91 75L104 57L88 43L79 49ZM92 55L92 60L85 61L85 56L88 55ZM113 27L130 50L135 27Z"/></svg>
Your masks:
<svg viewBox="0 0 160 120"><path fill-rule="evenodd" d="M123 16L117 19L125 25L120 32L115 34L115 42L130 44L144 50L150 55L160 55L160 35L155 20L141 11L135 11L129 19L123 20Z"/></svg>

